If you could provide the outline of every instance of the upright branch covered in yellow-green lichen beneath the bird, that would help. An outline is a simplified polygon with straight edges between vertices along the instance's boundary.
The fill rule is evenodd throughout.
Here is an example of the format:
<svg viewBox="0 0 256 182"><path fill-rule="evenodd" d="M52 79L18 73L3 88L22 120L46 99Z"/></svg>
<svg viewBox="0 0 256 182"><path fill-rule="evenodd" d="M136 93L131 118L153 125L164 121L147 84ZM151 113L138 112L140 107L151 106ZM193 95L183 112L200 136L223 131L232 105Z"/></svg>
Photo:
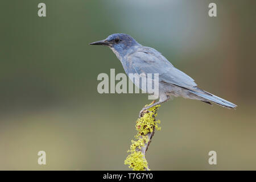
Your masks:
<svg viewBox="0 0 256 182"><path fill-rule="evenodd" d="M155 101L150 105L154 103ZM155 133L155 129L160 130L160 127L158 127L158 123L160 123L160 121L156 121L155 119L158 107L160 107L160 105L156 105L145 110L142 117L138 118L136 121L135 127L138 133L135 135L136 140L131 140L131 147L130 150L128 150L130 154L125 160L125 164L129 165L129 168L133 168L134 171L150 170L145 155Z"/></svg>

